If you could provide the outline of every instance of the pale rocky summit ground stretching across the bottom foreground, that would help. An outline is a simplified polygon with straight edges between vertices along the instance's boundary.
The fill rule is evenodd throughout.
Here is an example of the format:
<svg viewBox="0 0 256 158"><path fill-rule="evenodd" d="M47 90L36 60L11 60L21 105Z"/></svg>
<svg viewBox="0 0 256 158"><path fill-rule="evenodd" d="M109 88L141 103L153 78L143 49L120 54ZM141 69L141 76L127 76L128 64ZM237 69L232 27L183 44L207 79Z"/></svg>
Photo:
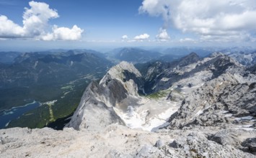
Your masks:
<svg viewBox="0 0 256 158"><path fill-rule="evenodd" d="M216 132L217 131L217 132ZM207 133L207 134L206 134ZM4 129L1 157L255 157L255 131L211 127L156 133L112 124L101 131ZM244 151L244 152L243 152Z"/></svg>

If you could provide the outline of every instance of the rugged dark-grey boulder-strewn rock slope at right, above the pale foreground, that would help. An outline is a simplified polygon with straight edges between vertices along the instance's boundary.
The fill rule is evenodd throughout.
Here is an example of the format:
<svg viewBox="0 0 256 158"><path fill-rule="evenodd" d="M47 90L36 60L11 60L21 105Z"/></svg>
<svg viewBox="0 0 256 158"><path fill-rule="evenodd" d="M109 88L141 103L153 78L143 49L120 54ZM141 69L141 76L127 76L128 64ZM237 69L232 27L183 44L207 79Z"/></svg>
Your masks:
<svg viewBox="0 0 256 158"><path fill-rule="evenodd" d="M172 116L170 128L184 126L252 126L256 113L255 83L221 75L193 91ZM222 124L222 125L221 125Z"/></svg>

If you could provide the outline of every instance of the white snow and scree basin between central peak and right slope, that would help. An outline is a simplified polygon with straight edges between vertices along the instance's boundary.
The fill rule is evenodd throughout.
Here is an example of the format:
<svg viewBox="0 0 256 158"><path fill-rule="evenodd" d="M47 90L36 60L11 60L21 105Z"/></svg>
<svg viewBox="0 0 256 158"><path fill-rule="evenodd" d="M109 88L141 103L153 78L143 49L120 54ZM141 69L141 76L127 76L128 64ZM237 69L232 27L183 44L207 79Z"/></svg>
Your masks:
<svg viewBox="0 0 256 158"><path fill-rule="evenodd" d="M177 103L167 101L165 98L158 101L141 98L140 106L128 106L126 111L114 107L115 112L131 129L143 129L144 131L156 131L166 126L169 117L178 109Z"/></svg>

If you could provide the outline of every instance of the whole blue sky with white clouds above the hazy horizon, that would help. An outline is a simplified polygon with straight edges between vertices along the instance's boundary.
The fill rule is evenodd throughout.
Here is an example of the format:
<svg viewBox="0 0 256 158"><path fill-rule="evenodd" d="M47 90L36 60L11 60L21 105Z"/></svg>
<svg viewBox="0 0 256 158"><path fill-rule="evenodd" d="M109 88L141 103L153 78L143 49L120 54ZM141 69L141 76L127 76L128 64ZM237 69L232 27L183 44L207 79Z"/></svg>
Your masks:
<svg viewBox="0 0 256 158"><path fill-rule="evenodd" d="M0 0L0 50L255 46L255 0Z"/></svg>

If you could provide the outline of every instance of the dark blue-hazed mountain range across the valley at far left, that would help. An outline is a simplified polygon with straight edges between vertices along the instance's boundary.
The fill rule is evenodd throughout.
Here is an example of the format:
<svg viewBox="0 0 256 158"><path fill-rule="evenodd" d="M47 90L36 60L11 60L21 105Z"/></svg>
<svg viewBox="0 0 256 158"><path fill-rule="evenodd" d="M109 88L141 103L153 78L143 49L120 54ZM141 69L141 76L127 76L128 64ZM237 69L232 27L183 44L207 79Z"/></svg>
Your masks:
<svg viewBox="0 0 256 158"><path fill-rule="evenodd" d="M111 65L110 61L92 53L70 54L35 52L19 55L11 65L0 68L1 88L62 84L82 75L105 71Z"/></svg>

